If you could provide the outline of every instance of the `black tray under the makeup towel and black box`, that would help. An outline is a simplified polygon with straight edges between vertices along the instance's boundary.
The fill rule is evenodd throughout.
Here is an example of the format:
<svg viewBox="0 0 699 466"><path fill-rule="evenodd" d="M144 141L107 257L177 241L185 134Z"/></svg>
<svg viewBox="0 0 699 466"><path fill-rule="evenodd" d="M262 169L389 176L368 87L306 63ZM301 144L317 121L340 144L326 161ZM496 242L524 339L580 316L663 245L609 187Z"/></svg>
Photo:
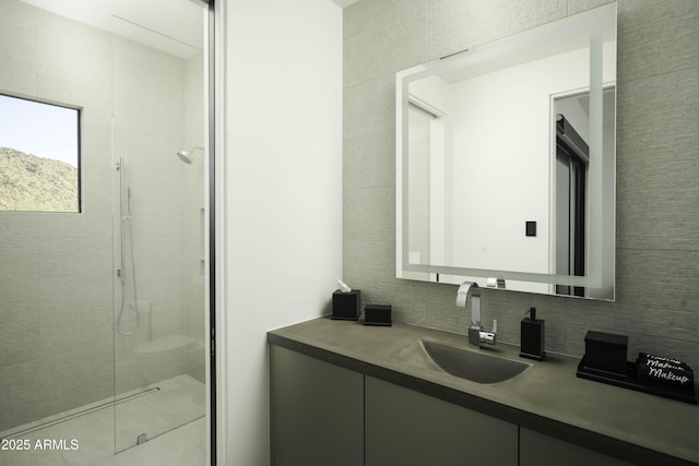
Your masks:
<svg viewBox="0 0 699 466"><path fill-rule="evenodd" d="M607 372L600 369L585 367L583 356L578 365L577 375L581 379L594 380L595 382L608 383L609 385L623 386L624 389L636 390L638 392L650 393L651 395L663 396L665 398L677 399L679 402L697 404L695 387L675 389L673 386L648 384L636 377L637 362L627 362L626 374Z"/></svg>

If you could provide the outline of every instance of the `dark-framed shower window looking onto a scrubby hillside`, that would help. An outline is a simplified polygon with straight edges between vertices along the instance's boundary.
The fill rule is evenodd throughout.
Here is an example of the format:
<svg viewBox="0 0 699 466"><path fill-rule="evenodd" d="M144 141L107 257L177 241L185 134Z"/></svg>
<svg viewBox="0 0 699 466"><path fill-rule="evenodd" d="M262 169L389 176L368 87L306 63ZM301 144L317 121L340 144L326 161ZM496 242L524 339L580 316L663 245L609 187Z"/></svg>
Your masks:
<svg viewBox="0 0 699 466"><path fill-rule="evenodd" d="M0 211L80 205L80 109L0 94Z"/></svg>

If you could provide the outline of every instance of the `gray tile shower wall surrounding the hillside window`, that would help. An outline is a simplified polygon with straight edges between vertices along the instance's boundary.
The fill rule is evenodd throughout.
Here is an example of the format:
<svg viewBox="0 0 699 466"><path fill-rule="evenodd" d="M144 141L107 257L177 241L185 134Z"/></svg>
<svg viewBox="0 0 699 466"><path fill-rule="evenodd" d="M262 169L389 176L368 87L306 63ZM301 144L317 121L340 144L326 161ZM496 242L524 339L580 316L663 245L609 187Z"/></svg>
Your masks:
<svg viewBox="0 0 699 466"><path fill-rule="evenodd" d="M84 207L0 213L0 431L112 393L110 47L0 0L0 92L83 108Z"/></svg>

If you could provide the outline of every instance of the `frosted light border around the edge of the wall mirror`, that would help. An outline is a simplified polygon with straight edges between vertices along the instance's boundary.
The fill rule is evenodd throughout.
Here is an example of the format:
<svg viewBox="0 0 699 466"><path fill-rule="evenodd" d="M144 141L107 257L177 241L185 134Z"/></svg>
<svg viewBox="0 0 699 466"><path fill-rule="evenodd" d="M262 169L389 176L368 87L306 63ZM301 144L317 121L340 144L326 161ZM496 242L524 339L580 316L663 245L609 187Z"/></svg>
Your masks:
<svg viewBox="0 0 699 466"><path fill-rule="evenodd" d="M590 189L588 192L589 240L588 259L584 276L557 275L518 271L499 271L473 268L469 266L445 266L416 264L410 261L407 244L407 104L412 99L408 94L410 83L464 67L488 65L498 58L512 52L522 57L533 50L533 46L545 48L567 40L571 35L581 34L589 40L590 52L590 154L589 168ZM616 3L609 3L583 13L545 24L483 46L475 47L454 56L446 57L429 63L413 67L396 73L396 276L399 278L426 282L460 283L463 279L479 282L482 286L507 282L507 289L518 289L510 284L534 283L548 284L545 292L555 295L556 285L583 287L591 290L588 298L614 300L615 274L615 152L603 157L603 91L609 83L603 82L603 43L616 41ZM537 56L540 57L540 56ZM616 83L612 83L615 85ZM552 128L555 122L552 122ZM555 132L554 132L555 134ZM552 139L553 140L553 139ZM555 157L554 157L555 159ZM595 162L596 160L596 162ZM553 164L552 164L553 170ZM487 208L484 206L483 208ZM550 215L550 205L549 205ZM405 247L404 247L405 246ZM445 280L443 277L449 279ZM440 277L442 279L440 279ZM488 280L488 278L490 278ZM529 290L529 289L520 289ZM568 295L562 295L568 296Z"/></svg>

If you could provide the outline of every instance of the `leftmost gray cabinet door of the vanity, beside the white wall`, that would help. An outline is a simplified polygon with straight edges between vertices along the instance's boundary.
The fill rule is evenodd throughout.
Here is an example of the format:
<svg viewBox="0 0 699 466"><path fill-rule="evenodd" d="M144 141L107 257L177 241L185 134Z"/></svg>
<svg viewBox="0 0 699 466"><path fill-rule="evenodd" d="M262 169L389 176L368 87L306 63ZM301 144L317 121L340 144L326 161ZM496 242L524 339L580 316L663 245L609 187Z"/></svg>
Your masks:
<svg viewBox="0 0 699 466"><path fill-rule="evenodd" d="M275 466L364 464L364 374L270 346Z"/></svg>

